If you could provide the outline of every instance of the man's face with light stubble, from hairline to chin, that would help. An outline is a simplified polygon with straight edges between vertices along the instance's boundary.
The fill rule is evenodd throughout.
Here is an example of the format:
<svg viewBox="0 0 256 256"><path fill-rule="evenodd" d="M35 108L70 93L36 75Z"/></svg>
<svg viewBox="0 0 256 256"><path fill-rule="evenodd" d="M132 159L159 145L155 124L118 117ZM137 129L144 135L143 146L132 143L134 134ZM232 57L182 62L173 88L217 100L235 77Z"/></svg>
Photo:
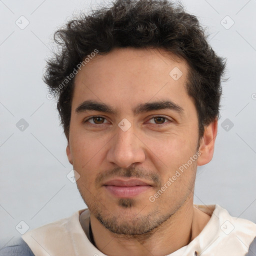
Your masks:
<svg viewBox="0 0 256 256"><path fill-rule="evenodd" d="M198 120L186 75L187 64L163 50L124 48L75 77L67 155L84 202L112 232L152 230L192 197ZM158 101L172 104L150 104Z"/></svg>

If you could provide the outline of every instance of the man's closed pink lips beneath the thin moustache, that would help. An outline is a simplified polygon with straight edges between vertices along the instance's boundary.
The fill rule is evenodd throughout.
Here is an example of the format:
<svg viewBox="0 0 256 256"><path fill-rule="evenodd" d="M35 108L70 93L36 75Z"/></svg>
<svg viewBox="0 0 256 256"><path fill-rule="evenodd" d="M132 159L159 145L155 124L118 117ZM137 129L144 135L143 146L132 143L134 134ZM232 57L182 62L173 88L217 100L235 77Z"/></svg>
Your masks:
<svg viewBox="0 0 256 256"><path fill-rule="evenodd" d="M104 187L115 197L129 198L152 188L152 185L139 179L112 179L105 182Z"/></svg>

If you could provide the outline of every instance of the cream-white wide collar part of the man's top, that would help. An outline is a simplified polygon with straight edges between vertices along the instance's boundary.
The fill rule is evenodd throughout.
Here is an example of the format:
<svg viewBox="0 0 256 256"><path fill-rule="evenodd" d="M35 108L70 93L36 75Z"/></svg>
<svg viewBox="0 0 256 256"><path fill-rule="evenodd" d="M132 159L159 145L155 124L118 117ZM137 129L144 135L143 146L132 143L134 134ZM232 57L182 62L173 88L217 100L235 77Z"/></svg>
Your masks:
<svg viewBox="0 0 256 256"><path fill-rule="evenodd" d="M166 256L256 255L255 250L246 254L250 245L250 249L256 246L255 223L230 216L218 204L195 206L211 215L209 221L189 244ZM85 230L79 222L83 211ZM35 256L106 256L90 242L89 214L88 209L79 210L70 217L27 231L21 237Z"/></svg>

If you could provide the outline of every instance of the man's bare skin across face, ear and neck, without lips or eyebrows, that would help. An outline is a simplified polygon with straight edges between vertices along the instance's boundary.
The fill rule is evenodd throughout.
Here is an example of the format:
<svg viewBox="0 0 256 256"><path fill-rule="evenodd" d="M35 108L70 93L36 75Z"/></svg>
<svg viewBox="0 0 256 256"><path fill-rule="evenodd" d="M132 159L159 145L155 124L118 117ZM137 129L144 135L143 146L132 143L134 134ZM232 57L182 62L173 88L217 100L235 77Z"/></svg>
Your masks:
<svg viewBox="0 0 256 256"><path fill-rule="evenodd" d="M178 80L169 75L174 67L183 73ZM163 49L123 48L96 55L75 77L66 153L80 175L77 187L91 212L96 247L104 254L170 254L196 237L210 218L193 206L193 191L197 166L212 158L217 120L205 127L198 145L197 112L185 89L187 68L183 59ZM111 105L117 112L76 112L84 100ZM183 113L132 111L157 100L171 100ZM103 118L90 118L94 115ZM118 126L123 118L131 124L126 131ZM197 159L151 202L149 196L198 150ZM118 177L139 178L151 186L118 198L103 185Z"/></svg>

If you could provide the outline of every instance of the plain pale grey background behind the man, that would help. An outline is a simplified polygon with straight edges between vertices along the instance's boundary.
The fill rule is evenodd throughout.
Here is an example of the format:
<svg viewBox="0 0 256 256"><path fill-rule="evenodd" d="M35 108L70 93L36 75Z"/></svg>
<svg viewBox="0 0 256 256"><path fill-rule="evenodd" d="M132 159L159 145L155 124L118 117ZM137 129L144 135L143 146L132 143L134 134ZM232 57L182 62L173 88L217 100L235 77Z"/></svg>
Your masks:
<svg viewBox="0 0 256 256"><path fill-rule="evenodd" d="M92 2L0 0L1 246L20 235L15 227L25 228L21 220L32 229L86 207L66 177L72 169L66 139L41 77L54 47L53 32L73 13L100 3ZM223 83L214 156L198 167L194 203L217 203L233 216L256 222L256 0L182 3L208 27L208 40L227 58L230 77ZM21 15L29 21L24 29ZM21 118L28 123L23 131L16 126Z"/></svg>

